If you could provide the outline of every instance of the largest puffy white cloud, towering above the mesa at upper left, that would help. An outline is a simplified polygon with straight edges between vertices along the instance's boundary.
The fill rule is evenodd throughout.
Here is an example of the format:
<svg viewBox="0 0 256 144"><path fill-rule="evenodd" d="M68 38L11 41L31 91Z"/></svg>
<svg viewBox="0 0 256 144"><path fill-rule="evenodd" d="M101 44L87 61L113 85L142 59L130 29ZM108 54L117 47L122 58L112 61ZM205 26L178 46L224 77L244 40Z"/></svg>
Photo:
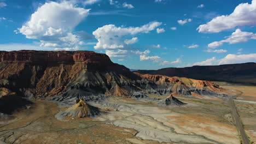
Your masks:
<svg viewBox="0 0 256 144"><path fill-rule="evenodd" d="M72 31L88 14L89 10L66 1L48 2L31 15L19 32L28 39L40 40L41 46L67 50L82 44L79 35L72 34Z"/></svg>

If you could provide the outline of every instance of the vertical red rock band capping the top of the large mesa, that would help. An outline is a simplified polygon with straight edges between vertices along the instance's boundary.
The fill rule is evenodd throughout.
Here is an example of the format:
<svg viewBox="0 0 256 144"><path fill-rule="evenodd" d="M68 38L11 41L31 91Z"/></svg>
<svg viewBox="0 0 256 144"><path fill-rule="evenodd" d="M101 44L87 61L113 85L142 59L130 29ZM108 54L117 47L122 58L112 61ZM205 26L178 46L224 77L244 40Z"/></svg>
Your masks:
<svg viewBox="0 0 256 144"><path fill-rule="evenodd" d="M107 55L93 51L0 51L0 62L102 62L111 64Z"/></svg>

